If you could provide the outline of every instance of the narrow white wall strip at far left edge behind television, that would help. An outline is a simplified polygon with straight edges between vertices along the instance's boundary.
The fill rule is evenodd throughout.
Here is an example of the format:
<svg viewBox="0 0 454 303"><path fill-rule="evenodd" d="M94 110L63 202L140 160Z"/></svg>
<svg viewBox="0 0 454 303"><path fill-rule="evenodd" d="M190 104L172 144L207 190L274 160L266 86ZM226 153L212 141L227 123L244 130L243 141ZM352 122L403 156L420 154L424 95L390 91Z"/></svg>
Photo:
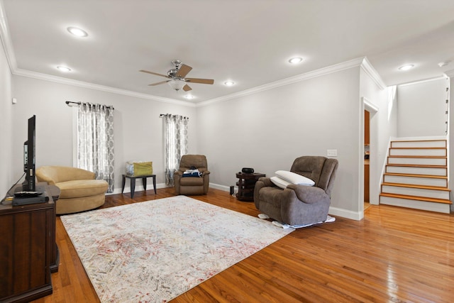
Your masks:
<svg viewBox="0 0 454 303"><path fill-rule="evenodd" d="M0 42L0 199L17 181L11 177L11 107L11 70Z"/></svg>

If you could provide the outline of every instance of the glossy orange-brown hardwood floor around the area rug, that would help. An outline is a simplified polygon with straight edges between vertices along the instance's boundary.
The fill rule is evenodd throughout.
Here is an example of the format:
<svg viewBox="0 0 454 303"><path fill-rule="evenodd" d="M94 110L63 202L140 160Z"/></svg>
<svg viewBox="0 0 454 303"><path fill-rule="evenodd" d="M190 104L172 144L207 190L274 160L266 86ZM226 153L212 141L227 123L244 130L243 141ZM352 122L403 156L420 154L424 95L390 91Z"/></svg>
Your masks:
<svg viewBox="0 0 454 303"><path fill-rule="evenodd" d="M173 195L114 194L102 207ZM253 202L216 189L194 198L259 214ZM34 302L99 302L60 217L56 233L54 292ZM453 302L453 287L454 216L371 205L362 221L337 217L298 229L172 302Z"/></svg>

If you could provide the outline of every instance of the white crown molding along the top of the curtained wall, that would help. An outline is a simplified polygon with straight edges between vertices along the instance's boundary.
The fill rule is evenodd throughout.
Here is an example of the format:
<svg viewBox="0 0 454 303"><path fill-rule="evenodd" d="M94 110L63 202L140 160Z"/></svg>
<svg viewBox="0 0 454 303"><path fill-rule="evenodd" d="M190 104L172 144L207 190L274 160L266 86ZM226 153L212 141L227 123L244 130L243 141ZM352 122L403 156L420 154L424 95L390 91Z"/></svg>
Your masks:
<svg viewBox="0 0 454 303"><path fill-rule="evenodd" d="M143 94L143 93L139 93L139 92L132 92L132 91L128 91L126 89L117 89L115 87L107 87L107 86L100 85L100 84L93 84L93 83L89 83L89 82L83 82L83 81L68 79L68 78L64 78L64 77L57 77L57 76L42 74L40 72L31 72L29 70L16 69L16 70L13 70L13 75L29 77L29 78L34 78L34 79L40 79L40 80L45 80L45 81L50 81L50 82L56 82L56 83L60 83L60 84L68 84L68 85L72 85L72 86L75 86L75 87L84 87L84 88L87 88L87 89L96 89L96 90L99 90L99 91L102 91L102 92L111 92L111 93L114 93L114 94L123 94L123 95L129 96L129 97L137 97L137 98L141 98L141 99L148 99L148 100L153 100L153 101L159 101L159 102L165 102L165 103L171 103L171 104L178 104L178 105L183 105L183 106L195 107L195 104L187 102L187 101L179 101L179 100L175 100L175 99L157 97L157 96L153 96L151 94Z"/></svg>

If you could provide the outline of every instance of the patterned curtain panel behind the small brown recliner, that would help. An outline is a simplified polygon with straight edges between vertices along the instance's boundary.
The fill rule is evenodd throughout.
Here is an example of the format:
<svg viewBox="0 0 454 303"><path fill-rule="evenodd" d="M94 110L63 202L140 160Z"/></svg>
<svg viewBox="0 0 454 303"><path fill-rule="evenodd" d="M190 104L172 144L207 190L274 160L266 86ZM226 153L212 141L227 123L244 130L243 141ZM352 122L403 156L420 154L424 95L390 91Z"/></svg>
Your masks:
<svg viewBox="0 0 454 303"><path fill-rule="evenodd" d="M173 174L178 169L182 155L187 154L187 123L189 118L164 115L165 119L165 184L173 186Z"/></svg>

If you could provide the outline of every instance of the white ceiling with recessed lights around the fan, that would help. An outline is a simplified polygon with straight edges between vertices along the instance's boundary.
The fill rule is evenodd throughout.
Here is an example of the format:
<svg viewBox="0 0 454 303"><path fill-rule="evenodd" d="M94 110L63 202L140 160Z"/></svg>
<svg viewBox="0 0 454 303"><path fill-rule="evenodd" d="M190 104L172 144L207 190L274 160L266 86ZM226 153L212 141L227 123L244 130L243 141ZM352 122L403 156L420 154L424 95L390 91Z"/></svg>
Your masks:
<svg viewBox="0 0 454 303"><path fill-rule="evenodd" d="M193 67L187 77L215 81L191 84L192 103L365 56L387 85L454 70L438 66L454 60L452 0L0 0L0 18L15 74L187 101L138 72L166 74L179 59ZM295 55L304 62L289 65Z"/></svg>

